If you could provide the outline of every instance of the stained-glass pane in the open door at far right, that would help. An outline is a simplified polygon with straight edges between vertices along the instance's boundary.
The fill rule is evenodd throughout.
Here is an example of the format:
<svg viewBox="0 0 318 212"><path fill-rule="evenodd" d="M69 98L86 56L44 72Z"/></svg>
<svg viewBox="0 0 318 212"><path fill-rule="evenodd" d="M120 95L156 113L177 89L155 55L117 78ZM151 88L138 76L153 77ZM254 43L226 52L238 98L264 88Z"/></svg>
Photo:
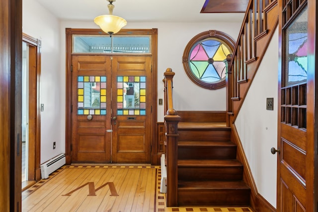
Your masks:
<svg viewBox="0 0 318 212"><path fill-rule="evenodd" d="M307 81L308 9L286 29L285 86Z"/></svg>

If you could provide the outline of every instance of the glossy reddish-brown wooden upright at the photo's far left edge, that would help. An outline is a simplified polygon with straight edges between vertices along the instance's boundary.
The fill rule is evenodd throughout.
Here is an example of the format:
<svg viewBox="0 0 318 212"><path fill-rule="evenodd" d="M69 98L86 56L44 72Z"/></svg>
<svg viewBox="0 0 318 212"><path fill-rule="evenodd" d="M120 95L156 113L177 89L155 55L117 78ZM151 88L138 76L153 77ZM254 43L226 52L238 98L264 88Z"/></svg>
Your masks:
<svg viewBox="0 0 318 212"><path fill-rule="evenodd" d="M14 57L10 44L10 0L0 1L0 206L10 211L10 57ZM13 54L13 55L12 55ZM14 121L14 120L13 120ZM12 164L14 166L14 164Z"/></svg>

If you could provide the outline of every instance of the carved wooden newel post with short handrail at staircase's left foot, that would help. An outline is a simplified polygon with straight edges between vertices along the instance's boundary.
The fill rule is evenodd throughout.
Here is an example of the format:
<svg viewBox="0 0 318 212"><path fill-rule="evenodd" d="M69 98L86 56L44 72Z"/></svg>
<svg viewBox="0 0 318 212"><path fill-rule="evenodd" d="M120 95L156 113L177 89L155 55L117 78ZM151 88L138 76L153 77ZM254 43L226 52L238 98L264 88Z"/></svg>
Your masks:
<svg viewBox="0 0 318 212"><path fill-rule="evenodd" d="M178 205L178 122L180 116L173 108L172 101L172 78L174 72L168 68L164 72L164 126L165 126L165 144L166 144L166 205L167 207Z"/></svg>

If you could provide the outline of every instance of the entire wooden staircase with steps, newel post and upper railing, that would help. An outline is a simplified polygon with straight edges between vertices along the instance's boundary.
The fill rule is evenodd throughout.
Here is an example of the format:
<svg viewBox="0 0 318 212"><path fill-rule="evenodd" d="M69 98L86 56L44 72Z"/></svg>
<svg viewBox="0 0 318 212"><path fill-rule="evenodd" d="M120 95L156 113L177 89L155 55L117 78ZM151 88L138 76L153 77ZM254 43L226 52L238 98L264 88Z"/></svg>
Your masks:
<svg viewBox="0 0 318 212"><path fill-rule="evenodd" d="M167 207L251 206L272 211L257 194L234 122L277 23L277 0L249 0L228 60L224 115L177 112L172 101L174 72L164 73Z"/></svg>

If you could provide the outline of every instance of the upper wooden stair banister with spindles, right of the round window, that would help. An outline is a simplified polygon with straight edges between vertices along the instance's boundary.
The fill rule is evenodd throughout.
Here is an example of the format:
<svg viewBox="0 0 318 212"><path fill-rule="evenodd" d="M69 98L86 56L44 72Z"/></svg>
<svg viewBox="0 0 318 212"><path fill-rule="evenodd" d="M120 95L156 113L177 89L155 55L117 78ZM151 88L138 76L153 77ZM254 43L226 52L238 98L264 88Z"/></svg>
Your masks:
<svg viewBox="0 0 318 212"><path fill-rule="evenodd" d="M252 73L249 73L248 65L255 62L257 53L262 51L261 48L256 49L257 41L267 35L267 12L275 3L277 0L249 0L232 60L229 63L228 72L231 72L233 77L229 90L232 93L232 101L240 100L240 84L251 78ZM230 113L236 112L233 111L232 106L231 103L228 104L227 111Z"/></svg>

